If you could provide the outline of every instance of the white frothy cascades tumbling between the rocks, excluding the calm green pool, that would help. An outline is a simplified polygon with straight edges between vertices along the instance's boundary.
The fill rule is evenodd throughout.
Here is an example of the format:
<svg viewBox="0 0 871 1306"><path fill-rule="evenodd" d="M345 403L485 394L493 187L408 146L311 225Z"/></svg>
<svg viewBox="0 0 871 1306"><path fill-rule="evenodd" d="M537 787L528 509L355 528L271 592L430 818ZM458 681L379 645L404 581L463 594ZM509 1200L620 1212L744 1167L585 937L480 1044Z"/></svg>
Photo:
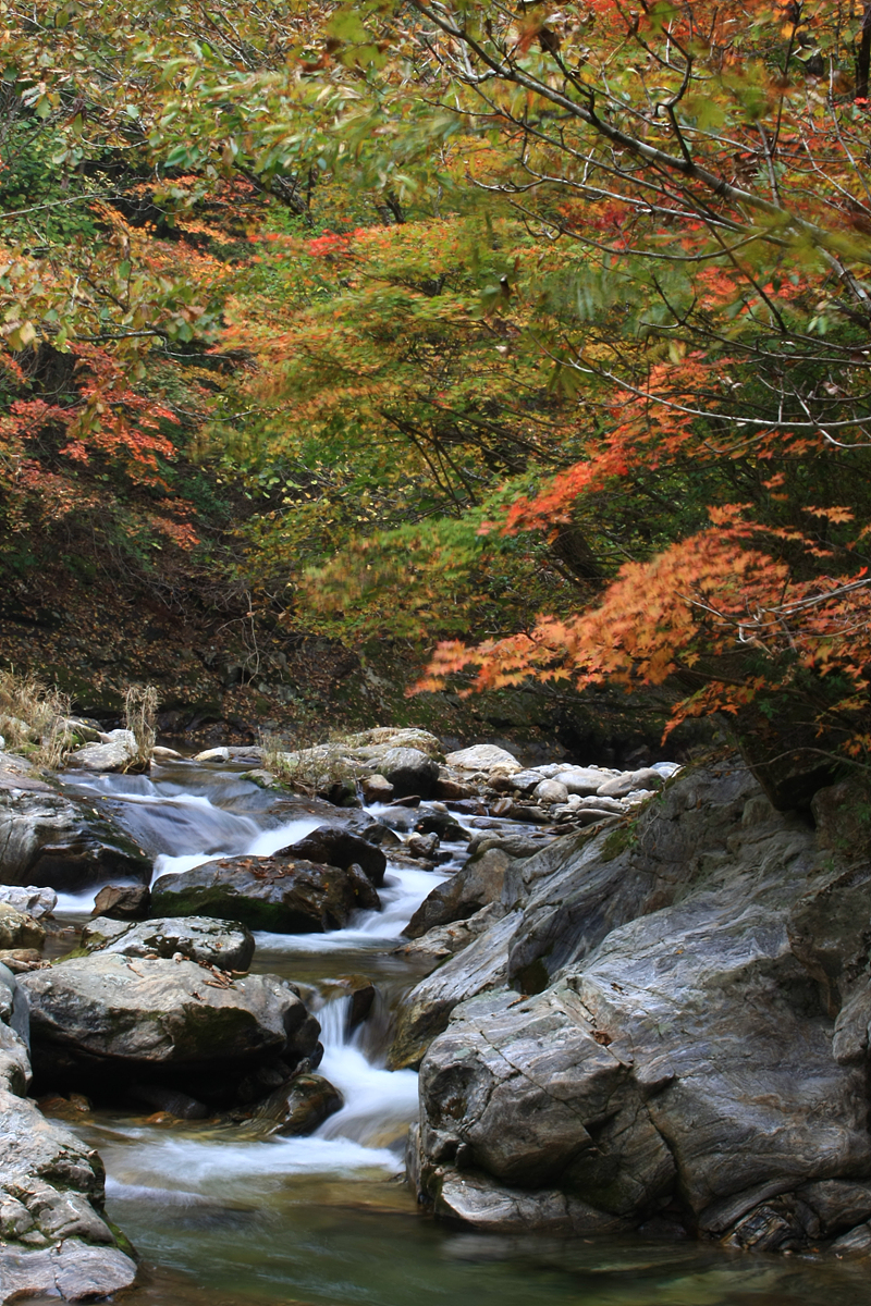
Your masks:
<svg viewBox="0 0 871 1306"><path fill-rule="evenodd" d="M99 801L142 848L157 853L155 878L215 857L268 857L309 833L324 819L300 815L264 828L268 818L257 808L259 791L252 797L252 807L244 807L244 790L253 790L253 785L215 772L210 786L205 768L191 768L189 788L184 780L184 768L176 765L171 781L161 774L157 781L146 776L76 777L68 789L80 798ZM221 806L227 795L232 811ZM323 953L323 965L319 957L311 978L315 987L324 982L334 991L333 981L320 977L336 974L334 964L341 973L347 965L342 959L353 952L373 959L389 953L422 900L453 868L443 874L388 866L379 889L380 912L360 912L349 929L329 934L257 934L257 953L281 952L281 973L291 977L296 973L294 957L302 961L315 952ZM64 897L59 909L84 914L93 906L95 892L94 888L87 895ZM324 1045L319 1074L338 1088L345 1105L312 1136L255 1141L244 1136L244 1130L234 1132L226 1126L174 1130L167 1135L141 1123L119 1128L115 1121L111 1128L94 1131L107 1164L110 1194L121 1200L197 1205L223 1196L235 1200L243 1194L272 1192L291 1175L359 1178L398 1170L407 1126L418 1110L418 1076L409 1070L388 1071L379 1064L377 1054L367 1055L363 1050L367 1028L349 1030L350 1000L347 995L332 998L316 1011ZM377 1042L371 1037L368 1041Z"/></svg>

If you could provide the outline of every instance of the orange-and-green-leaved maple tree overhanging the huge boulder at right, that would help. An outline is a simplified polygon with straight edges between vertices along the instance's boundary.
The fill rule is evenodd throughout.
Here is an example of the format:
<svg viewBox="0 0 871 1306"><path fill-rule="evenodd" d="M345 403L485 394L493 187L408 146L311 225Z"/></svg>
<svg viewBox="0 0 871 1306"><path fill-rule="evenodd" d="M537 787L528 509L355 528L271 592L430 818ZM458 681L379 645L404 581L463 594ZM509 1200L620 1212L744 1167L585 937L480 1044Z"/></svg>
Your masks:
<svg viewBox="0 0 871 1306"><path fill-rule="evenodd" d="M703 684L676 720L777 690L863 754L863 31L838 4L414 10L434 115L451 106L488 142L473 184L542 247L576 251L568 277L542 260L539 306L560 321L539 343L558 383L610 414L501 529L674 473L710 516L627 563L593 610L443 646L426 684L470 663L478 686L680 674Z"/></svg>

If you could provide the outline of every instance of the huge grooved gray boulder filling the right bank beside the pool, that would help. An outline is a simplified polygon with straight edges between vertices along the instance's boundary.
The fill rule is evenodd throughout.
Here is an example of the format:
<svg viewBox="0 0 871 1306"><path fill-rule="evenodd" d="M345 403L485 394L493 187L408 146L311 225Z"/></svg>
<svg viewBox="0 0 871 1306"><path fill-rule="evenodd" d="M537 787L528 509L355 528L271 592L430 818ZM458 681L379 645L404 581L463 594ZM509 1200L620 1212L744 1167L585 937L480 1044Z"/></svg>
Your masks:
<svg viewBox="0 0 871 1306"><path fill-rule="evenodd" d="M516 863L508 914L423 982L477 953L420 1067L410 1173L436 1211L867 1246L871 868L821 854L722 764Z"/></svg>

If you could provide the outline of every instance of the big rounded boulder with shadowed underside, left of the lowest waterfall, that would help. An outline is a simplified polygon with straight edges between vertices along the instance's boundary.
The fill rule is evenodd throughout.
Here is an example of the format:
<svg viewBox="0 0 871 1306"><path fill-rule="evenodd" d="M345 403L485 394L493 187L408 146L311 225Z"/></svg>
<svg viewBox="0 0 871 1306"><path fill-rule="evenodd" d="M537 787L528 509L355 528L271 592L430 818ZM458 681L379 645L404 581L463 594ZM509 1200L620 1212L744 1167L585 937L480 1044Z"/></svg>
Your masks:
<svg viewBox="0 0 871 1306"><path fill-rule="evenodd" d="M102 1096L137 1080L214 1101L234 1076L266 1060L315 1055L320 1027L276 976L218 982L195 961L111 952L21 976L30 1006L34 1074L64 1092Z"/></svg>

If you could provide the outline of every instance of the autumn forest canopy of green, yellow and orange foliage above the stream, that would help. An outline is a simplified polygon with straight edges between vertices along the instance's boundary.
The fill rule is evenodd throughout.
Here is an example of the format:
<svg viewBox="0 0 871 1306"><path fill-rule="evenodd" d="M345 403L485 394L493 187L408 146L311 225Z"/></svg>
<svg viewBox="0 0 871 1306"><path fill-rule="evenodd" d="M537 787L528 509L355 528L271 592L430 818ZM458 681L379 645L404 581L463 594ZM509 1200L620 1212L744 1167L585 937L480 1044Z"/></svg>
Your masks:
<svg viewBox="0 0 871 1306"><path fill-rule="evenodd" d="M867 757L868 0L0 22L10 586L60 546Z"/></svg>

